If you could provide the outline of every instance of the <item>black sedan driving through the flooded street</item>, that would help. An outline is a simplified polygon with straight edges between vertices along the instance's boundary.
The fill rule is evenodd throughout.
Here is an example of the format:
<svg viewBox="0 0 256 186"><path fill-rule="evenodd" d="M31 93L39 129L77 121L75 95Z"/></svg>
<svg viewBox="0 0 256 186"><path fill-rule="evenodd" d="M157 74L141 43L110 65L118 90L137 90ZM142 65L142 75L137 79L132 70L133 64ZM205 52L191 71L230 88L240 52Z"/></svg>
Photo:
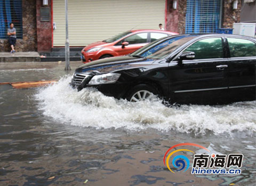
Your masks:
<svg viewBox="0 0 256 186"><path fill-rule="evenodd" d="M254 38L177 35L84 64L71 84L134 102L156 94L171 103L230 103L255 100L255 66Z"/></svg>

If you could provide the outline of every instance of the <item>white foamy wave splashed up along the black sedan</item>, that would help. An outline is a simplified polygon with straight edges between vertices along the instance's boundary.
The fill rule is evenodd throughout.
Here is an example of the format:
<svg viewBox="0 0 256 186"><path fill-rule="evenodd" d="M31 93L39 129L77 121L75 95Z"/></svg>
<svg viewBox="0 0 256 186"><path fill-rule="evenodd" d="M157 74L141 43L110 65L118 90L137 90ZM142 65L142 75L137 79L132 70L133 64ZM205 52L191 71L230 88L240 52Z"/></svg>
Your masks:
<svg viewBox="0 0 256 186"><path fill-rule="evenodd" d="M161 100L138 103L116 100L93 88L77 91L69 86L71 77L42 88L36 94L43 114L62 123L81 127L156 128L182 133L214 134L233 131L256 131L255 101L226 106L166 107Z"/></svg>

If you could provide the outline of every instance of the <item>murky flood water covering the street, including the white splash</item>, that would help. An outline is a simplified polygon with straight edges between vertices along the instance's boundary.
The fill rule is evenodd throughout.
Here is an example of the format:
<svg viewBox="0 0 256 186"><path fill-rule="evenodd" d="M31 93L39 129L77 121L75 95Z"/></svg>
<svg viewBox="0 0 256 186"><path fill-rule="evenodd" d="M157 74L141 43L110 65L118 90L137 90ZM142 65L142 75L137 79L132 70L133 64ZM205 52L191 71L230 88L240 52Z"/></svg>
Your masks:
<svg viewBox="0 0 256 186"><path fill-rule="evenodd" d="M166 107L93 88L77 92L69 82L80 64L66 74L63 62L0 63L0 82L59 80L28 89L0 85L0 185L255 184L256 101ZM242 173L193 175L190 167L173 174L164 154L186 142L242 153Z"/></svg>

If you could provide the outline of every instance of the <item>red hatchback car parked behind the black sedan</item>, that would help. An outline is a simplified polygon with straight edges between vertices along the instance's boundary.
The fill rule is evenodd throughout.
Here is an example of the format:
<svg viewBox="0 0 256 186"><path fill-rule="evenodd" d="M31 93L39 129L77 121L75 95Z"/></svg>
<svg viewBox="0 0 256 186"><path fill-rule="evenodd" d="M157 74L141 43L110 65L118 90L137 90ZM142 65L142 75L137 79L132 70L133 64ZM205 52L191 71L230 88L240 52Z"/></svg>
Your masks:
<svg viewBox="0 0 256 186"><path fill-rule="evenodd" d="M82 62L87 63L111 56L126 55L150 42L156 41L156 39L171 35L178 35L178 33L163 30L125 31L102 42L95 42L84 47L81 59Z"/></svg>

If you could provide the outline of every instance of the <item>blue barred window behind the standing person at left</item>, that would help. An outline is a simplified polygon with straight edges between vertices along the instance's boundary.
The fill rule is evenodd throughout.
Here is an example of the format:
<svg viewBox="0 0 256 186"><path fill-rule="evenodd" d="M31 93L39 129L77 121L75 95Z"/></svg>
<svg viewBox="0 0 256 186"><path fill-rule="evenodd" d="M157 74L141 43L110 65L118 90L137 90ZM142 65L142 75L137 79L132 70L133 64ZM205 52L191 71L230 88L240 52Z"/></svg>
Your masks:
<svg viewBox="0 0 256 186"><path fill-rule="evenodd" d="M0 0L0 39L7 39L7 28L13 22L16 36L22 39L22 0Z"/></svg>

